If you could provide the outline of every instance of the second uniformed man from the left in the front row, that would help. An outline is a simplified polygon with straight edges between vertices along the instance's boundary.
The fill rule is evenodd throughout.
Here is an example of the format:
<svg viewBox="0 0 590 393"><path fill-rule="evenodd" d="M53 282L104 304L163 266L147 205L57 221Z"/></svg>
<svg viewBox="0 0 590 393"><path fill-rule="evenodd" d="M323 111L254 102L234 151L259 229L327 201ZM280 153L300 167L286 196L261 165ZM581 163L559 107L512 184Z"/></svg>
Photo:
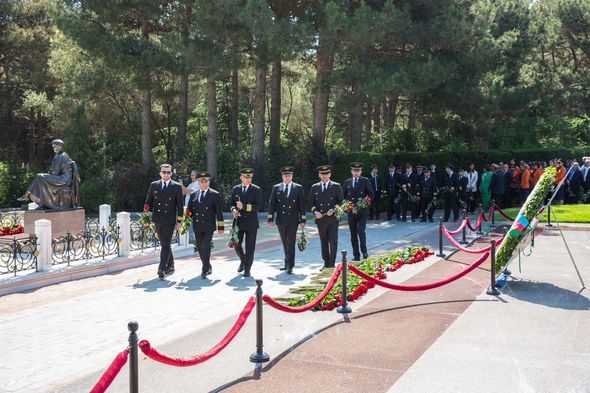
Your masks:
<svg viewBox="0 0 590 393"><path fill-rule="evenodd" d="M199 182L199 190L191 194L187 211L193 217L195 243L203 263L201 278L206 278L213 272L210 262L213 232L217 229L217 233L223 235L223 210L221 195L214 189L209 188L211 175L208 172L199 172L197 181Z"/></svg>

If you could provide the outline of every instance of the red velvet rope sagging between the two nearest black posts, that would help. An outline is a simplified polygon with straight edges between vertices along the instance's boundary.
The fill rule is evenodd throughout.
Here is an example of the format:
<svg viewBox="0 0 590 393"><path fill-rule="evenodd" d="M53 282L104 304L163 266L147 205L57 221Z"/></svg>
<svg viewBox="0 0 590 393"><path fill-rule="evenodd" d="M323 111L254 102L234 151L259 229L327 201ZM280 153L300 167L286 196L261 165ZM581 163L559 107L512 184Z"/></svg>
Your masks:
<svg viewBox="0 0 590 393"><path fill-rule="evenodd" d="M175 358L153 348L150 342L147 340L141 340L139 342L139 348L141 348L141 351L150 359L160 363L167 364L169 366L190 367L195 366L197 364L201 364L211 359L213 356L217 355L225 347L228 346L228 344L236 337L236 335L239 333L239 331L246 323L246 320L250 316L250 313L252 312L252 309L255 305L256 298L252 296L250 297L250 300L248 300L248 303L246 303L246 306L240 313L238 320L234 323L234 326L232 326L231 330L225 335L225 337L220 342L218 342L213 348L200 355L195 355L187 358Z"/></svg>

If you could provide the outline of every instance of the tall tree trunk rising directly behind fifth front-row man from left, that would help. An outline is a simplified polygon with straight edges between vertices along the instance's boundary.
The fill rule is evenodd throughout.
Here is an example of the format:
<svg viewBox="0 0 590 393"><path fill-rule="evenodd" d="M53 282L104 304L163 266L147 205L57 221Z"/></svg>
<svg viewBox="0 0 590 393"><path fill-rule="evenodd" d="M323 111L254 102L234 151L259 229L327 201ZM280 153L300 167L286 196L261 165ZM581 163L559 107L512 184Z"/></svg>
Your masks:
<svg viewBox="0 0 590 393"><path fill-rule="evenodd" d="M328 104L330 101L330 84L328 77L334 66L334 56L327 47L322 32L319 34L315 92L313 100L313 143L323 149L326 145L326 126L328 124Z"/></svg>

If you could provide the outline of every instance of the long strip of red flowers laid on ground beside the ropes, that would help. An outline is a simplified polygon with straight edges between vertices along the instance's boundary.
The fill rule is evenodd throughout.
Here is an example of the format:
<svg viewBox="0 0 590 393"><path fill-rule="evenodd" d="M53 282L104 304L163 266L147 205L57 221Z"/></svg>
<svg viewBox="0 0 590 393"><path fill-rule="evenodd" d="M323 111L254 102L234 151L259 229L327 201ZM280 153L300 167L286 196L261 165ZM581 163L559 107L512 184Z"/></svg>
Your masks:
<svg viewBox="0 0 590 393"><path fill-rule="evenodd" d="M404 265L411 265L421 262L427 257L434 255L434 252L426 247L408 247L395 251L390 256L379 258L377 260L369 258L355 263L355 266L364 273L371 275L379 280L387 278L386 272L395 272ZM367 282L357 275L348 272L348 301L353 302L363 296L373 288L375 284ZM317 288L307 291L303 297L289 301L289 306L302 306L315 299L323 288ZM315 308L316 310L333 310L342 305L342 278L334 286L334 289L326 298Z"/></svg>

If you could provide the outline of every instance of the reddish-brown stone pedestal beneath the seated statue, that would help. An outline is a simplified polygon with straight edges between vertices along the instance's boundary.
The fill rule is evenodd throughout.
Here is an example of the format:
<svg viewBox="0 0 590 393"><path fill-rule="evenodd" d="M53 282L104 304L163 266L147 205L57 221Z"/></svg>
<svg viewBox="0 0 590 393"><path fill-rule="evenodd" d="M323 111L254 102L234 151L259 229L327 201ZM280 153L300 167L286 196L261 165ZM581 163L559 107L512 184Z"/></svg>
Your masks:
<svg viewBox="0 0 590 393"><path fill-rule="evenodd" d="M86 212L83 207L63 210L26 210L24 213L25 232L35 234L35 221L51 221L52 237L65 236L71 232L84 232L86 226Z"/></svg>

